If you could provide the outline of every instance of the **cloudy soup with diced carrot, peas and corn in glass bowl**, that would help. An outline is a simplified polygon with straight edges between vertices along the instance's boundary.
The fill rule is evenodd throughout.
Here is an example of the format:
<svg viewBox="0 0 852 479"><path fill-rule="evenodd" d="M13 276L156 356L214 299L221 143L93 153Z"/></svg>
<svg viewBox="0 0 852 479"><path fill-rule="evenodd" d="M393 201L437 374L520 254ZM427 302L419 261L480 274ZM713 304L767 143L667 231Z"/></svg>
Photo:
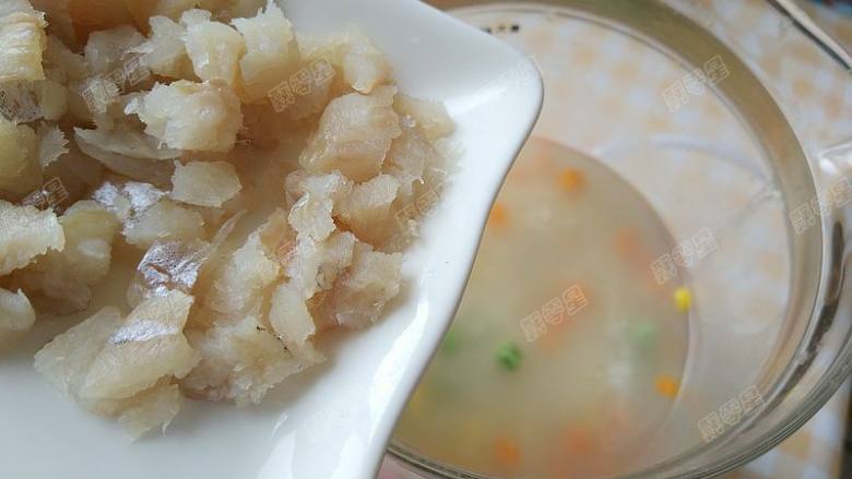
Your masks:
<svg viewBox="0 0 852 479"><path fill-rule="evenodd" d="M666 420L684 370L689 292L652 270L673 249L623 179L532 137L394 441L500 478L626 470Z"/></svg>

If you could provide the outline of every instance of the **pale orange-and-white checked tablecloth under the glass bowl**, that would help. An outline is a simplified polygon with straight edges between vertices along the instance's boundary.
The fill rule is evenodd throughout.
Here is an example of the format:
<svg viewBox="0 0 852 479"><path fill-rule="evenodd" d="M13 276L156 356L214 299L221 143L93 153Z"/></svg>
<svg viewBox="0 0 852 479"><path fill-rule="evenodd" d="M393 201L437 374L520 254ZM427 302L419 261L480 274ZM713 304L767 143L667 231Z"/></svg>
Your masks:
<svg viewBox="0 0 852 479"><path fill-rule="evenodd" d="M759 70L759 75L789 80L772 93L802 136L821 147L852 141L852 82L848 73L821 69L821 53L797 36L789 23L779 21L776 15L766 15L764 0L675 2L676 8L696 12L694 19L708 29L719 33L723 39L735 37L737 52ZM434 3L450 7L453 0L438 0ZM818 23L838 39L850 41L852 49L852 17L832 14L821 7L807 8ZM495 16L492 20L496 24L511 25L518 17ZM753 177L734 178L731 175L734 175L735 168L714 166L708 170L707 163L702 163L714 160L714 165L718 165L718 158L724 155L759 155L731 111L712 95L702 92L688 91L686 104L683 104L683 96L679 97L681 103L667 98L667 88L686 81L683 71L670 68L671 59L658 51L638 49L626 37L604 38L601 31L595 29L599 27L590 23L578 22L575 28L558 32L536 27L536 22L546 21L543 16L523 21L524 47L529 48L528 51L543 52L533 56L533 59L540 62L547 87L545 107L534 134L604 158L610 167L634 181L654 207L661 211L676 240L687 238L706 226L717 228L723 236L725 231L733 231L731 221L736 215L732 212L749 207L756 192L766 185L754 180L766 181L767 172L756 167ZM770 47L767 48L767 45ZM706 65L707 69L709 67ZM689 86L686 83L685 88ZM684 149L674 148L668 153L654 151L642 143L648 137L688 137L701 147L725 145L726 149L714 152L715 156L712 157L694 155L695 164L688 165L684 161ZM642 161L637 161L643 151L647 155ZM670 160L668 156L671 164L664 165ZM648 161L652 160L659 163L649 167ZM668 171L670 175L648 175L648 170ZM673 177L679 179L677 184L673 184ZM707 189L706 193L696 192L696 189L701 188ZM666 197L666 194L670 196ZM712 200L703 202L708 204L698 202L694 208L666 209L673 199ZM753 214L752 229L765 232L768 227L783 228L783 220L784 217L778 211L773 213L771 207L764 208ZM735 324L727 327L742 328L743 337L750 337L747 340L754 348L770 348L772 342L766 338L778 334L779 326L771 319L783 310L786 298L776 287L786 284L789 279L789 268L781 260L786 247L783 243L770 244L782 235L772 236L770 241L765 237L749 237L749 232L746 227L730 235L739 237L720 238L721 242L727 241L732 247L729 251L731 258L742 259L739 264L732 266L725 260L724 251L718 253L714 261L724 266L720 271L737 276L739 282L747 280L752 291L748 296L725 298L725 313L737 319ZM754 252L749 252L749 248ZM725 282L731 282L730 277L721 273L718 278L706 276L708 288L714 287L713 280L719 283L715 287L722 289ZM732 354L735 354L736 348L733 349ZM743 375L742 387L745 387L752 379L745 378L748 373ZM685 387L689 385L685 384ZM849 391L849 384L844 385L800 431L725 478L839 478ZM702 408L713 410L714 405L722 404L726 398L709 398L708 405ZM381 479L413 477L388 466L380 474Z"/></svg>

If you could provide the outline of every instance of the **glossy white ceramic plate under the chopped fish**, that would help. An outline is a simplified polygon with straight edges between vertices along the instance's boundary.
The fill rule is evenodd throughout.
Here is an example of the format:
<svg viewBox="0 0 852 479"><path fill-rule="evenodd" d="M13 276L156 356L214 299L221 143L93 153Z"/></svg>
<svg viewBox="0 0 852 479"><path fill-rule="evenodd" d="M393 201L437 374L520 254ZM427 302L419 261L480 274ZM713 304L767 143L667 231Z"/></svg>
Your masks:
<svg viewBox="0 0 852 479"><path fill-rule="evenodd" d="M0 477L375 476L454 314L490 204L537 118L541 77L511 48L414 0L282 3L303 32L360 26L390 58L401 89L445 101L457 122L459 170L406 255L405 288L375 326L322 339L329 361L292 378L261 406L190 403L164 435L135 443L114 421L60 397L33 370L37 346L22 348L0 359Z"/></svg>

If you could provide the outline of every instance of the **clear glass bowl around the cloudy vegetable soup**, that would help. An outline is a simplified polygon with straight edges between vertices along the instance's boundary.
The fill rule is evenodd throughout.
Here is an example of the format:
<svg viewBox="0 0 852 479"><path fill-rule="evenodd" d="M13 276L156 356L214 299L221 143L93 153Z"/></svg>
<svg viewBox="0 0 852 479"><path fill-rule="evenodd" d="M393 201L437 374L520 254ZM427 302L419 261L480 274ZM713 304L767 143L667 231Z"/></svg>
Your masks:
<svg viewBox="0 0 852 479"><path fill-rule="evenodd" d="M617 477L712 477L807 421L851 370L849 55L788 1L433 3L530 55L533 134L616 171L677 243L649 268L695 295L681 392ZM482 477L400 442L384 468Z"/></svg>

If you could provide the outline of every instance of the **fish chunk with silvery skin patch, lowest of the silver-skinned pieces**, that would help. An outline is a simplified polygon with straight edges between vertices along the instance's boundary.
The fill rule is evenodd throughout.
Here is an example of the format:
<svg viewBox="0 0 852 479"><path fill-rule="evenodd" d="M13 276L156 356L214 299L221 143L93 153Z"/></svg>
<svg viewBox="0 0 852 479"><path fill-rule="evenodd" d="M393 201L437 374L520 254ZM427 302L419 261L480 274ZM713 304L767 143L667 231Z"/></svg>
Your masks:
<svg viewBox="0 0 852 479"><path fill-rule="evenodd" d="M92 363L80 395L121 399L162 378L184 378L199 355L182 334L192 297L171 291L141 302L114 332Z"/></svg>

